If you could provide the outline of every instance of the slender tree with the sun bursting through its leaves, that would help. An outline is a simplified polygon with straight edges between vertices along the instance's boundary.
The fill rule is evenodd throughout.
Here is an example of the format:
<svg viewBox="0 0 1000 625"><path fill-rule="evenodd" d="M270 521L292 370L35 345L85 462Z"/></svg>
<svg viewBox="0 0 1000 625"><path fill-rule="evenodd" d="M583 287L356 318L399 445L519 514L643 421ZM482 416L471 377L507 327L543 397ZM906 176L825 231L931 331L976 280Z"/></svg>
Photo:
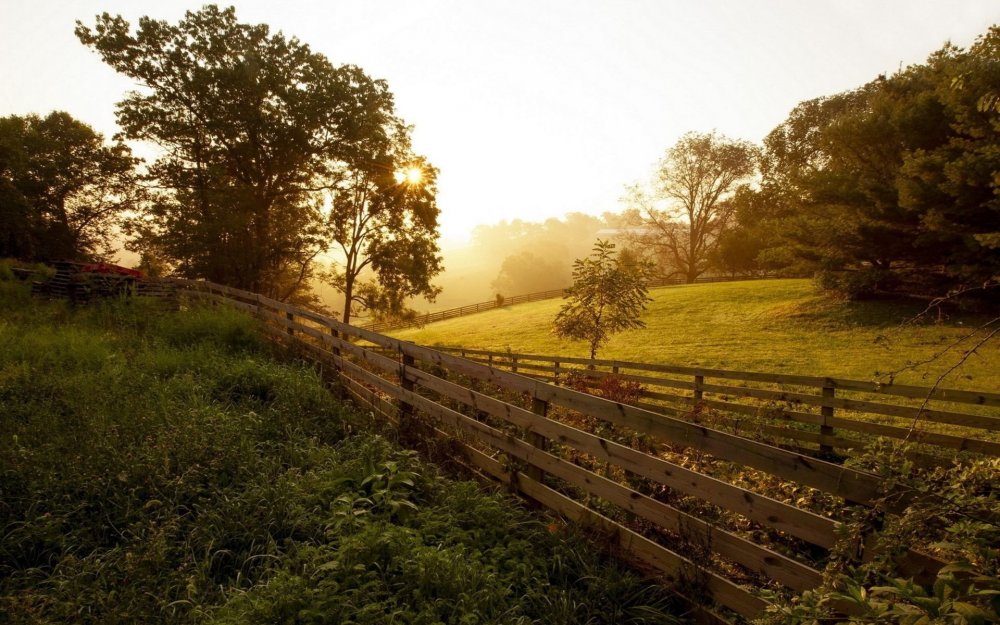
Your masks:
<svg viewBox="0 0 1000 625"><path fill-rule="evenodd" d="M413 154L408 128L392 139L335 172L328 231L340 259L330 278L344 295L344 323L361 311L405 316L407 299L440 291L431 284L442 269L437 169Z"/></svg>

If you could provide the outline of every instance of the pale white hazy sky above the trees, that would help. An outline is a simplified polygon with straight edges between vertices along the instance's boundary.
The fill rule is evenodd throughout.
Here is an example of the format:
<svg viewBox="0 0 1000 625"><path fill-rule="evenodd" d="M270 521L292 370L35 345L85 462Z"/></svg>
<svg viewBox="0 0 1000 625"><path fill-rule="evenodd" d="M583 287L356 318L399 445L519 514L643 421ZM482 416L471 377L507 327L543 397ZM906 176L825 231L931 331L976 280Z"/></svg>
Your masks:
<svg viewBox="0 0 1000 625"><path fill-rule="evenodd" d="M220 3L226 5L227 3ZM966 47L983 1L239 1L388 80L414 143L441 169L442 232L620 209L684 132L759 142L798 102ZM73 35L107 11L171 22L174 0L0 0L0 115L69 111L111 135L133 85Z"/></svg>

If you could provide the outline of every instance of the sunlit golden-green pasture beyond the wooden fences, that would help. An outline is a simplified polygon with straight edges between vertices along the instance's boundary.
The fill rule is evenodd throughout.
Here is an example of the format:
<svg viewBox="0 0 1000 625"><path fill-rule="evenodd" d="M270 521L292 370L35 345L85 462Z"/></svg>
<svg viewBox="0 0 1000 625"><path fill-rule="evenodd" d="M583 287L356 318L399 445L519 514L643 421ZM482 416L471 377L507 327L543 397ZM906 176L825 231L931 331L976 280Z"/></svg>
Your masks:
<svg viewBox="0 0 1000 625"><path fill-rule="evenodd" d="M647 327L613 337L598 358L867 380L931 358L988 320L953 314L941 324L904 326L921 304L833 301L808 280L664 287L650 295ZM558 299L523 304L391 334L424 345L585 358L584 343L552 334L561 305ZM932 383L972 342L897 381ZM944 385L1000 388L1000 341L984 346Z"/></svg>

